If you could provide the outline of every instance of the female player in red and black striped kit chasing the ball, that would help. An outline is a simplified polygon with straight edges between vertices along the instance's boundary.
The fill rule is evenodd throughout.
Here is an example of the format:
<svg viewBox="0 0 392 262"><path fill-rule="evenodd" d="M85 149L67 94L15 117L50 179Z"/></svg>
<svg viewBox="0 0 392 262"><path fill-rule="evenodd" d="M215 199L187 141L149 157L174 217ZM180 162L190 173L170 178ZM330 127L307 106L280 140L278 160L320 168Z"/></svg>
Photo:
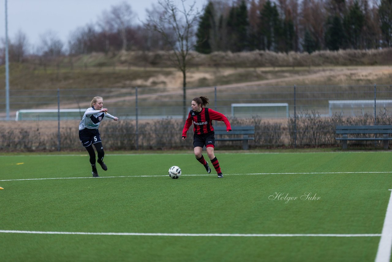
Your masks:
<svg viewBox="0 0 392 262"><path fill-rule="evenodd" d="M192 100L192 110L189 111L188 119L182 130L182 139L187 139L187 131L193 123L193 147L196 159L204 165L205 170L207 170L208 173L211 173L208 162L205 161L201 154L203 146L205 146L207 155L218 174L218 178L223 178L218 159L216 159L214 155L215 132L214 127L212 126L212 120L223 121L226 124L228 133L231 131L231 127L230 122L225 115L210 108L205 108L208 103L209 99L205 96L195 97Z"/></svg>

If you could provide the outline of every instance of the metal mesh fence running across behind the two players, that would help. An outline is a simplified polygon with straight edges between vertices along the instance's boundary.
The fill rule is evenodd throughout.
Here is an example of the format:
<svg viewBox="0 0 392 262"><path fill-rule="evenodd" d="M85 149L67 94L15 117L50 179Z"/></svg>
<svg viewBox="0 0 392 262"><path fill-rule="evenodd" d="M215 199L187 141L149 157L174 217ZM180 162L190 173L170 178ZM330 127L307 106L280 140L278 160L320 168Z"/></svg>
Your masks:
<svg viewBox="0 0 392 262"><path fill-rule="evenodd" d="M336 125L392 124L392 85L187 88L185 106L181 88L11 90L8 119L5 92L0 92L0 148L82 150L78 123L96 95L120 118L105 119L100 126L111 150L192 147L192 127L187 141L181 140L181 131L192 99L201 95L210 99L207 107L228 117L233 129L255 127L250 148L338 146ZM241 143L216 146L241 148Z"/></svg>

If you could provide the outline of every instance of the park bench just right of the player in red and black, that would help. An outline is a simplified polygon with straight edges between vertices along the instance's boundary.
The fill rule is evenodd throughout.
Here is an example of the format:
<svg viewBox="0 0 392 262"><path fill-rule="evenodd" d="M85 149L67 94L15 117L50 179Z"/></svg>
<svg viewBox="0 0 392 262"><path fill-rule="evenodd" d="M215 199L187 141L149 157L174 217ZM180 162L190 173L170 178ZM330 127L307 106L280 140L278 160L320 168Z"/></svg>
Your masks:
<svg viewBox="0 0 392 262"><path fill-rule="evenodd" d="M242 141L242 149L249 149L249 140L254 140L254 126L232 126L227 133L226 126L214 126L215 141ZM252 135L252 137L249 137Z"/></svg>

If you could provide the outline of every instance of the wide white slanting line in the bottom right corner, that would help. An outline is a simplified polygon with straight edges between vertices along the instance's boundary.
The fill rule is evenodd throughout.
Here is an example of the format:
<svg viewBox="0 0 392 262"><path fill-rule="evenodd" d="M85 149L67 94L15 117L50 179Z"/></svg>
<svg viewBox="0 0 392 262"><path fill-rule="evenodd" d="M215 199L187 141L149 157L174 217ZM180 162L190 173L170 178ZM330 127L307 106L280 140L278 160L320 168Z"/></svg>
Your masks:
<svg viewBox="0 0 392 262"><path fill-rule="evenodd" d="M380 243L376 255L376 262L389 262L392 247L392 189L389 197L387 214L385 215L383 231L381 232Z"/></svg>

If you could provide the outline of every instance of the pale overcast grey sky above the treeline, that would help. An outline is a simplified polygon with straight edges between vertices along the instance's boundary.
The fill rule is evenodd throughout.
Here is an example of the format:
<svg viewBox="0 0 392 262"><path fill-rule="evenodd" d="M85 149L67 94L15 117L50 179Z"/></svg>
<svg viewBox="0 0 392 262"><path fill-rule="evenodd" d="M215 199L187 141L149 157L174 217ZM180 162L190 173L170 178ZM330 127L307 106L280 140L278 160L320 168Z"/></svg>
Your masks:
<svg viewBox="0 0 392 262"><path fill-rule="evenodd" d="M29 43L37 46L40 35L51 30L65 42L75 29L95 23L104 10L109 11L112 5L121 2L123 0L7 0L8 37L13 39L21 30L27 35ZM146 18L145 10L151 9L152 4L158 5L158 0L125 2L131 5L142 21ZM207 0L196 0L197 8L200 10L205 2ZM0 3L0 38L5 38L5 0L0 0ZM186 3L191 4L193 0Z"/></svg>

